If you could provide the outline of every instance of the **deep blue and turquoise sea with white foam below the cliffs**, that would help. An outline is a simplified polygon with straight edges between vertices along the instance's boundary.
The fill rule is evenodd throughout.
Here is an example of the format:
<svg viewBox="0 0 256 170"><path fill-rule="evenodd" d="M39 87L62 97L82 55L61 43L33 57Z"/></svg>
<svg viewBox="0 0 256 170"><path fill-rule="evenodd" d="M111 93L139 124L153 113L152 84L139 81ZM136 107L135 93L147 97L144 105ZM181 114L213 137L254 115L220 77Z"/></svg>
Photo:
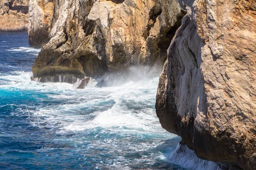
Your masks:
<svg viewBox="0 0 256 170"><path fill-rule="evenodd" d="M166 160L180 137L156 116L155 74L85 89L33 82L39 51L26 33L0 33L0 169L185 170Z"/></svg>

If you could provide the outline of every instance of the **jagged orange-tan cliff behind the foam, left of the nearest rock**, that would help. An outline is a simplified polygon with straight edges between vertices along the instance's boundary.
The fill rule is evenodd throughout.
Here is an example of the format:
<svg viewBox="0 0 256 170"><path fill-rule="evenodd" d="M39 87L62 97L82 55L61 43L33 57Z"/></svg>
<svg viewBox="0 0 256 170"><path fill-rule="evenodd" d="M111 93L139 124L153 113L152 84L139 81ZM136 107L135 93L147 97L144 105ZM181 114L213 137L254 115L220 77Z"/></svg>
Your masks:
<svg viewBox="0 0 256 170"><path fill-rule="evenodd" d="M185 15L177 0L59 0L47 7L53 11L49 17L47 3L29 4L30 45L48 41L32 67L34 77L82 78L161 65Z"/></svg>

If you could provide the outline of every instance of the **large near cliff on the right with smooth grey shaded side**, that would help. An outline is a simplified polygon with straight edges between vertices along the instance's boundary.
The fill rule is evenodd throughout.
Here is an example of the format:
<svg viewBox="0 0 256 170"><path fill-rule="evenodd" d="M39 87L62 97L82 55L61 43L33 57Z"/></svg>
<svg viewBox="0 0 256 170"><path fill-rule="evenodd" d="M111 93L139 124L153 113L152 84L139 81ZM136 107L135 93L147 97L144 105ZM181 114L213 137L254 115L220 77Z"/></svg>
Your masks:
<svg viewBox="0 0 256 170"><path fill-rule="evenodd" d="M157 90L160 123L199 158L255 170L256 1L183 3Z"/></svg>

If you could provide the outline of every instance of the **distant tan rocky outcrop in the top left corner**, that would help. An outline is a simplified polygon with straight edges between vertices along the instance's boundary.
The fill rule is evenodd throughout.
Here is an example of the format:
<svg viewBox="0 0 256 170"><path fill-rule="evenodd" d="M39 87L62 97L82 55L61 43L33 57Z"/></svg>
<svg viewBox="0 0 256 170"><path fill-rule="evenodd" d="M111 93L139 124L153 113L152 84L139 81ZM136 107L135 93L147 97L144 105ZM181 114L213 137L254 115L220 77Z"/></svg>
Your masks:
<svg viewBox="0 0 256 170"><path fill-rule="evenodd" d="M29 0L0 0L0 31L27 31Z"/></svg>

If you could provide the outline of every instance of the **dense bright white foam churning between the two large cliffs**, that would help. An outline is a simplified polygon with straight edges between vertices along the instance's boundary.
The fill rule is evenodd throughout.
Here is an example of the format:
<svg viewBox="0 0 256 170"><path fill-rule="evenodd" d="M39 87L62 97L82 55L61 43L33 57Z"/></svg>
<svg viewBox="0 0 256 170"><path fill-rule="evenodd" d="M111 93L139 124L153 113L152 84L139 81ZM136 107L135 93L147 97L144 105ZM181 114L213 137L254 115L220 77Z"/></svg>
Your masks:
<svg viewBox="0 0 256 170"><path fill-rule="evenodd" d="M133 77L126 75L126 77L129 76ZM125 82L120 82L119 79L118 82L118 79L114 79L116 86L101 88L95 87L96 81L92 81L84 89L73 89L73 85L68 83L34 82L31 81L31 77L31 72L15 72L14 75L0 76L0 79L11 82L8 85L0 85L0 88L18 88L46 94L51 92L55 94L48 94L49 98L72 101L34 111L36 117L46 117L44 121L49 124L60 123L59 132L80 131L95 127L114 127L116 130L126 130L131 133L140 130L148 134L165 131L158 122L154 108L143 106L154 105L158 77L143 77L148 81L125 79ZM111 102L113 104L110 104ZM99 103L103 103L102 106L99 106ZM76 114L83 113L86 108L104 108L106 105L109 106L103 111L90 113L93 119ZM40 119L38 121L40 122ZM87 123L84 123L85 121ZM32 121L37 126L40 125L39 122Z"/></svg>

